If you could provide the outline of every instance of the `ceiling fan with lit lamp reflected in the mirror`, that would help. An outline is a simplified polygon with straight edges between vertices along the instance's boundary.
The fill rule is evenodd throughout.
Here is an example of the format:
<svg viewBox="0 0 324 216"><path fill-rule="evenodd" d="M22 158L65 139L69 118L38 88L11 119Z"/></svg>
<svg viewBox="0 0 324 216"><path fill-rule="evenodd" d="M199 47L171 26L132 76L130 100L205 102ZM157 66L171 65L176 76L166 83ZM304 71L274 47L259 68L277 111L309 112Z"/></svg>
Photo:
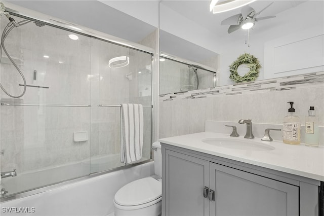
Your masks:
<svg viewBox="0 0 324 216"><path fill-rule="evenodd" d="M267 9L270 5L270 3L267 7L259 11L258 13L255 12L253 8L250 6L244 6L241 9L240 14L236 14L234 16L228 17L227 19L224 19L221 22L221 25L230 25L227 32L232 33L233 31L236 31L237 29L250 29L252 26L254 26L255 22L264 20L264 19L270 19L274 18L275 16L266 16L266 17L257 17L259 14L261 14L262 11Z"/></svg>

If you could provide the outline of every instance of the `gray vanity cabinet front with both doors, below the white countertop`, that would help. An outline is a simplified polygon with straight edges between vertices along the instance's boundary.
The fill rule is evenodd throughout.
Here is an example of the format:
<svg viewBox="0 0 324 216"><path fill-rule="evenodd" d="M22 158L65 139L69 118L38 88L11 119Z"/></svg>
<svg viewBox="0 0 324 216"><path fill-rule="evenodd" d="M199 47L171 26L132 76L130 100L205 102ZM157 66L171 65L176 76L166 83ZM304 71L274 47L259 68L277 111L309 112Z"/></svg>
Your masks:
<svg viewBox="0 0 324 216"><path fill-rule="evenodd" d="M163 151L163 216L300 215L298 186L170 149Z"/></svg>

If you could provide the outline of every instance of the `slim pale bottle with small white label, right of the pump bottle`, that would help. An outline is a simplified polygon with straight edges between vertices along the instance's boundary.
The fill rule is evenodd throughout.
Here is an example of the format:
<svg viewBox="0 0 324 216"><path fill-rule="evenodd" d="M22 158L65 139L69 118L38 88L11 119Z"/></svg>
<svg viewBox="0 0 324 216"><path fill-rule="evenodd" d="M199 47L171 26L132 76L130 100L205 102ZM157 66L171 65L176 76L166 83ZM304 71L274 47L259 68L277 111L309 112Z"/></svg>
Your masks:
<svg viewBox="0 0 324 216"><path fill-rule="evenodd" d="M318 147L318 126L314 106L309 108L308 116L305 117L305 145Z"/></svg>

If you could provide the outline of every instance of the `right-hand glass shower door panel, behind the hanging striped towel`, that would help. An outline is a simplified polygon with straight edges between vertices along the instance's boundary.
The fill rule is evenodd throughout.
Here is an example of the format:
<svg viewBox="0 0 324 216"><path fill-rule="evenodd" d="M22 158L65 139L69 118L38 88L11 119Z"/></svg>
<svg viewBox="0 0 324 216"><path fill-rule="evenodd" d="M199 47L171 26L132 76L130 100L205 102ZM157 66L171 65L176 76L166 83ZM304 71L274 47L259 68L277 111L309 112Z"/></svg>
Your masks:
<svg viewBox="0 0 324 216"><path fill-rule="evenodd" d="M143 105L141 160L150 159L152 122L152 55L92 40L91 172L124 166L120 162L120 104Z"/></svg>

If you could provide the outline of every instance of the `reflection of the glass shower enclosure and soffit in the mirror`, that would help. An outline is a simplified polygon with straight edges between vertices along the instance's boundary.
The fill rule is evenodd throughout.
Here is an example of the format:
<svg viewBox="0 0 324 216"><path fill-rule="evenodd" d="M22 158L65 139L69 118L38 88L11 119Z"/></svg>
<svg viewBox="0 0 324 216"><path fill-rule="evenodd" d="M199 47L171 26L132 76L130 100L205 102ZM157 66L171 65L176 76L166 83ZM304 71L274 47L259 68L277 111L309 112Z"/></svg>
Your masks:
<svg viewBox="0 0 324 216"><path fill-rule="evenodd" d="M163 30L160 30L160 48L160 94L216 86L217 53Z"/></svg>

